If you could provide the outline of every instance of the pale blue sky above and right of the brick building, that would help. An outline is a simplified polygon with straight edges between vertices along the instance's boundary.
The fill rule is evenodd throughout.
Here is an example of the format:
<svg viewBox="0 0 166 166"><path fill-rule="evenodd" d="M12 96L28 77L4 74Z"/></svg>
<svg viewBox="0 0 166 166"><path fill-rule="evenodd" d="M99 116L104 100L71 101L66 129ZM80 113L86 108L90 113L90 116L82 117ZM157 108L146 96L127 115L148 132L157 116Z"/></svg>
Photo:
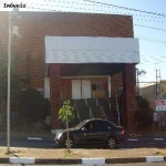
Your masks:
<svg viewBox="0 0 166 166"><path fill-rule="evenodd" d="M1 0L0 10L12 10L3 7L3 3L11 2L25 4L24 9L20 8L20 11L71 11L133 15L134 37L139 39L141 53L141 63L136 68L146 71L145 75L139 76L141 85L156 81L156 70L158 80L166 80L166 0Z"/></svg>

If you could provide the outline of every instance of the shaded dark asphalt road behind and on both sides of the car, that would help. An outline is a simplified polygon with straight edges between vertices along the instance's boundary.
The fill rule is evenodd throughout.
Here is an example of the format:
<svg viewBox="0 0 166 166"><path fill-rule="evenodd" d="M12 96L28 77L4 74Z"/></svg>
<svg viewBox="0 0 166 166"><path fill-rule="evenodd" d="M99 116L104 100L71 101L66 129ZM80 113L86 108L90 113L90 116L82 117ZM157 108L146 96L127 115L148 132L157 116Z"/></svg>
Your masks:
<svg viewBox="0 0 166 166"><path fill-rule="evenodd" d="M0 137L0 146L7 146L7 138ZM11 147L28 147L28 148L56 148L53 138L40 138L40 139L28 139L28 138L11 138ZM117 148L141 148L141 147L156 147L165 148L166 138L162 141L155 139L143 139L143 141L125 141L117 145Z"/></svg>

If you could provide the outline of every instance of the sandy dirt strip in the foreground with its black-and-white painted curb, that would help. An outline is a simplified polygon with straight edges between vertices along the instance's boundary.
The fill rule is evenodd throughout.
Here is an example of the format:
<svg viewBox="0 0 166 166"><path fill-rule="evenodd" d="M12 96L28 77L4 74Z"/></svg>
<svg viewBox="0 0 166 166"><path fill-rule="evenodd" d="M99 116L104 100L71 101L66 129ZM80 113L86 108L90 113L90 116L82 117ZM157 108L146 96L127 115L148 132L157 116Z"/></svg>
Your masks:
<svg viewBox="0 0 166 166"><path fill-rule="evenodd" d="M2 149L4 151L4 149ZM165 151L165 149L164 149ZM157 148L139 149L72 149L68 154L64 149L25 149L12 148L10 156L2 157L1 164L122 164L164 162L166 156L159 155ZM153 152L153 153L152 153ZM157 153L159 153L157 155ZM125 155L124 155L125 154ZM156 154L156 155L155 155Z"/></svg>

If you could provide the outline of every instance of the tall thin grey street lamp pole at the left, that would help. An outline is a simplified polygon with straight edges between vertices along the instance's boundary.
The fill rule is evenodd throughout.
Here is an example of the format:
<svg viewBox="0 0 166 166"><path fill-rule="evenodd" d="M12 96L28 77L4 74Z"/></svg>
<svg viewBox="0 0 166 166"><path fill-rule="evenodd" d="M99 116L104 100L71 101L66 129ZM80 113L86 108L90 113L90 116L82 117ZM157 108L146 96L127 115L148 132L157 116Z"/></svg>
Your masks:
<svg viewBox="0 0 166 166"><path fill-rule="evenodd" d="M12 19L18 18L19 9L13 8L9 12L9 34L8 34L8 96L7 96L7 153L10 153L10 70L11 70L11 38L12 38Z"/></svg>

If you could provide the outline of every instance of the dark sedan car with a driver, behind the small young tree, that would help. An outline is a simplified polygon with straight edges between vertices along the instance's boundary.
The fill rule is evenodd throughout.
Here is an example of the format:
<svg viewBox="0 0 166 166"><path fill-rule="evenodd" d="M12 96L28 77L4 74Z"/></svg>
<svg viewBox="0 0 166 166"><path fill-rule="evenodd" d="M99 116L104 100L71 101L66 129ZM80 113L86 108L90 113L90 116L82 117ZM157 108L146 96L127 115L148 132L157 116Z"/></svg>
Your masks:
<svg viewBox="0 0 166 166"><path fill-rule="evenodd" d="M66 147L66 133L69 131L70 146L74 145L106 145L114 148L116 144L124 142L124 128L116 126L107 120L85 120L77 126L59 131L54 142L59 147Z"/></svg>

